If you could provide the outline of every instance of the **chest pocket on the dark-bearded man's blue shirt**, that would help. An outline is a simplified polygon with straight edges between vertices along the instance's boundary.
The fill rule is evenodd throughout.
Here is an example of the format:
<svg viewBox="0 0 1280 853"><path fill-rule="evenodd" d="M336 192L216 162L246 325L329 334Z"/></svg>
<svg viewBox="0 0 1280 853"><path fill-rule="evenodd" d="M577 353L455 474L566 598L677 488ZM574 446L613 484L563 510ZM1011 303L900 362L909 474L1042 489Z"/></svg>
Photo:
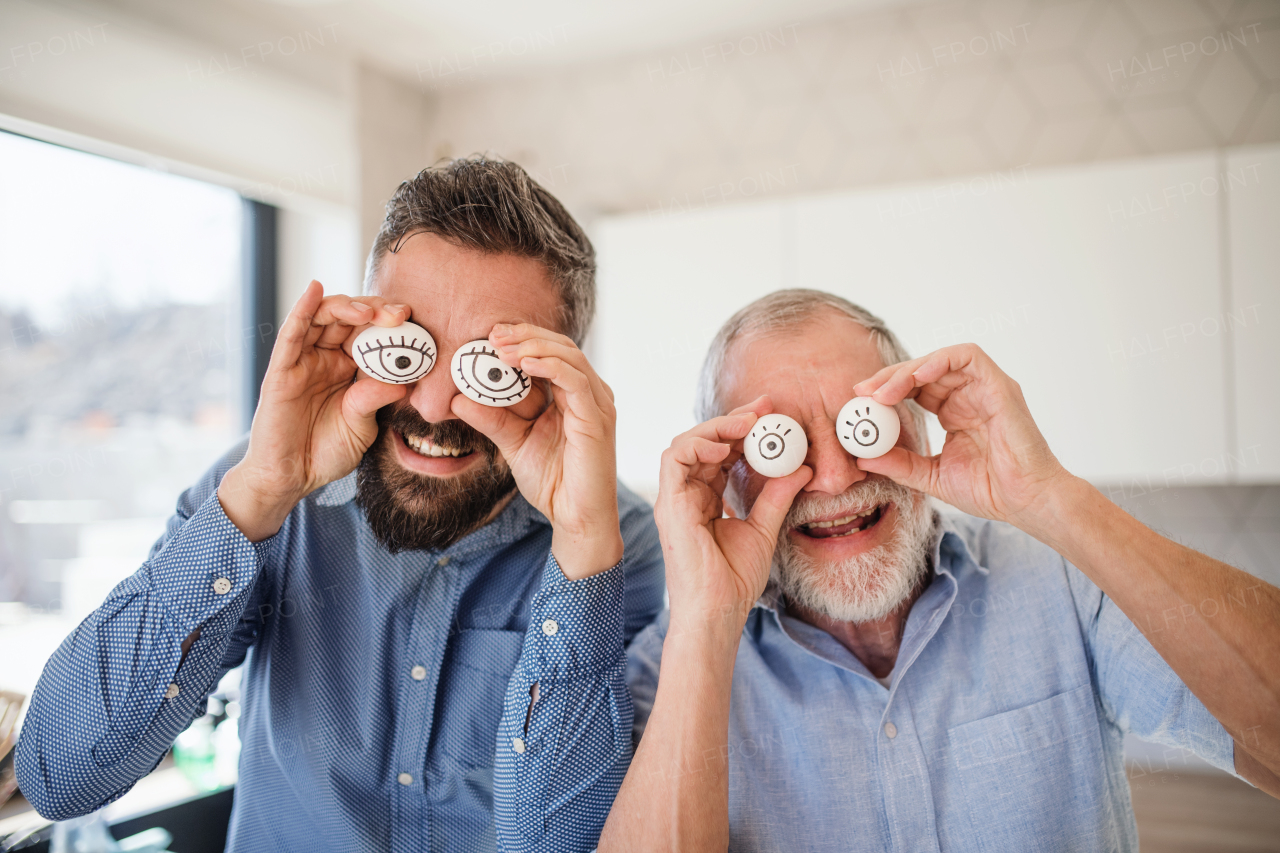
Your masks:
<svg viewBox="0 0 1280 853"><path fill-rule="evenodd" d="M465 629L453 635L436 694L435 744L454 767L492 767L507 684L524 631Z"/></svg>

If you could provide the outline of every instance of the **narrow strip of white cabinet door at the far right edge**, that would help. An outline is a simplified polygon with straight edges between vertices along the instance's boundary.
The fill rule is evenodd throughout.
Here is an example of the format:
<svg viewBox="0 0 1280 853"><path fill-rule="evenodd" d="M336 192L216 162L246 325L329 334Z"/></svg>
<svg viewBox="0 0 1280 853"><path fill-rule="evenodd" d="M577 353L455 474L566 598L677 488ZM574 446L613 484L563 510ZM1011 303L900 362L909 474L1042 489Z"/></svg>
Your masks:
<svg viewBox="0 0 1280 853"><path fill-rule="evenodd" d="M1280 146L1228 160L1231 304L1221 323L1235 361L1236 479L1280 480Z"/></svg>

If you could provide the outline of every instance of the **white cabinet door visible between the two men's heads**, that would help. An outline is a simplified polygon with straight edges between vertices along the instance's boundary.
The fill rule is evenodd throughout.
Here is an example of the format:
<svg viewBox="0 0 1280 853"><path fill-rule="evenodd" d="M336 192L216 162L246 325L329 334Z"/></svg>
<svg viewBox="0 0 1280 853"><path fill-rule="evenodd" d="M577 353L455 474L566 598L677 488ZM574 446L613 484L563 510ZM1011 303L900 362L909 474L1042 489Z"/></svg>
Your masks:
<svg viewBox="0 0 1280 853"><path fill-rule="evenodd" d="M783 286L780 205L634 215L593 228L596 369L616 394L618 478L652 496L658 462L694 425L707 347L737 309Z"/></svg>

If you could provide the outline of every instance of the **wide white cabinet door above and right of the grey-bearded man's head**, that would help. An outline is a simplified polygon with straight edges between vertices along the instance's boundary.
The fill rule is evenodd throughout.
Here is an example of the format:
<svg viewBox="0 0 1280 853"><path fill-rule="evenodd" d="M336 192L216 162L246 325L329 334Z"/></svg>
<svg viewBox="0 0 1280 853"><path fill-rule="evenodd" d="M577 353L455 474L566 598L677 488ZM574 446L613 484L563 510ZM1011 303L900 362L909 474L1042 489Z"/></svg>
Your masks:
<svg viewBox="0 0 1280 853"><path fill-rule="evenodd" d="M913 355L982 346L1082 476L1221 482L1222 339L1197 333L1221 314L1215 179L1201 155L810 197L796 279Z"/></svg>

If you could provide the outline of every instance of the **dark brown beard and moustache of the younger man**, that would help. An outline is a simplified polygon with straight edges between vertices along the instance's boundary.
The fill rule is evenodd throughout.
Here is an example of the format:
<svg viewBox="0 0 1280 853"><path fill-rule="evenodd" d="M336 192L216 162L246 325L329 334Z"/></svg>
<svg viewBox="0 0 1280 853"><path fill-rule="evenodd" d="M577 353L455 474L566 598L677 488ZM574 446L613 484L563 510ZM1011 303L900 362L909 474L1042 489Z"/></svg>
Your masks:
<svg viewBox="0 0 1280 853"><path fill-rule="evenodd" d="M483 455L484 464L449 478L406 470L388 435L393 429ZM448 548L479 528L515 488L511 467L492 441L461 420L430 424L404 405L379 410L378 438L356 471L356 505L392 553Z"/></svg>

